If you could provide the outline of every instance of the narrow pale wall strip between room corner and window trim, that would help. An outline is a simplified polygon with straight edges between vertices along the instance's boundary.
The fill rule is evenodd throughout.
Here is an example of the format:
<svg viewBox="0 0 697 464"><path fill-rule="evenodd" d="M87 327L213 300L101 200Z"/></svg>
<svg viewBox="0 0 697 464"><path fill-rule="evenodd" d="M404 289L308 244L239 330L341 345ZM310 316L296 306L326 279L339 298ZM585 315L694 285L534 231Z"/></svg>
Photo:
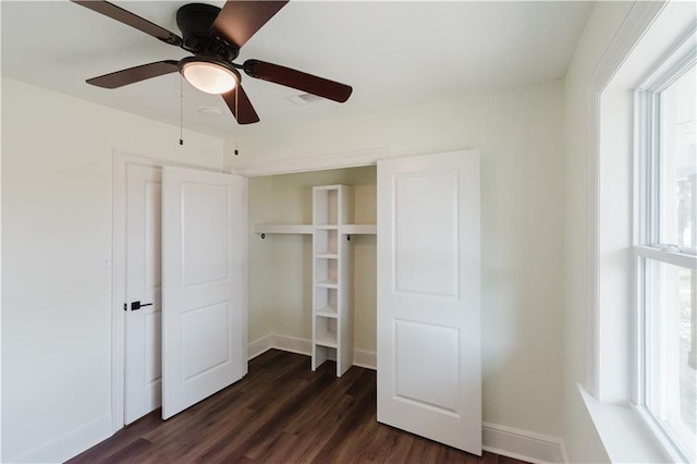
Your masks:
<svg viewBox="0 0 697 464"><path fill-rule="evenodd" d="M631 2L600 2L590 14L564 83L564 438L571 462L609 462L576 383L586 382L588 266L589 82Z"/></svg>

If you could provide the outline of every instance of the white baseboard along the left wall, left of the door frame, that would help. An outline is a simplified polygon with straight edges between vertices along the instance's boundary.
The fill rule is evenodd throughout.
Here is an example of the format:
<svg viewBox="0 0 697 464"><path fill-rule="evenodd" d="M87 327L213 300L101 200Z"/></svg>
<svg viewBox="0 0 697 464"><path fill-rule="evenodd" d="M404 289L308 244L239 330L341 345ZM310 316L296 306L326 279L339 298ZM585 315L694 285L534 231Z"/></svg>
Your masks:
<svg viewBox="0 0 697 464"><path fill-rule="evenodd" d="M91 424L50 440L35 451L10 461L19 463L62 463L112 435L111 414L109 414Z"/></svg>

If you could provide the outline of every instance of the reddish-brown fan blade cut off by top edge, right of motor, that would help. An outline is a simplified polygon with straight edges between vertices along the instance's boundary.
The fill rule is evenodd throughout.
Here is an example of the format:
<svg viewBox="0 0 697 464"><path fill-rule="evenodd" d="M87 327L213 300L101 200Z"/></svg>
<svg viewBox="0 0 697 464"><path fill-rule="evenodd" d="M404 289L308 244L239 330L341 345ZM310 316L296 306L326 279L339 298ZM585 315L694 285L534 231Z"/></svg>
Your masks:
<svg viewBox="0 0 697 464"><path fill-rule="evenodd" d="M288 2L289 0L227 1L212 28L218 37L242 47Z"/></svg>

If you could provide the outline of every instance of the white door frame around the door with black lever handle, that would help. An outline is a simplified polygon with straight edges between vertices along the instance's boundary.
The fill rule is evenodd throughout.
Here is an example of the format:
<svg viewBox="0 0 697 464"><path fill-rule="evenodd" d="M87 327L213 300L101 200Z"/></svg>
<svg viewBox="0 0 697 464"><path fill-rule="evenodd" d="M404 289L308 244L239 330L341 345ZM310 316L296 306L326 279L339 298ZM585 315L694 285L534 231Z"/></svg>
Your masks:
<svg viewBox="0 0 697 464"><path fill-rule="evenodd" d="M125 417L125 312L126 297L126 169L129 164L162 168L198 169L221 172L219 169L186 164L162 158L133 155L123 150L113 151L113 242L111 274L111 432L124 427Z"/></svg>

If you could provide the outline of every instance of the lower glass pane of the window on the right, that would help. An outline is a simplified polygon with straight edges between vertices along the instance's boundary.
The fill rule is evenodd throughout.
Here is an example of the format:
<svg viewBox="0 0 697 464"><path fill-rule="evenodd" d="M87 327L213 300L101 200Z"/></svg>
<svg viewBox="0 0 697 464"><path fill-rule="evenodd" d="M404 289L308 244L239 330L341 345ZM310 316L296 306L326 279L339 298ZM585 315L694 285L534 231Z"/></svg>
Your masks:
<svg viewBox="0 0 697 464"><path fill-rule="evenodd" d="M695 460L697 272L646 259L647 407Z"/></svg>

